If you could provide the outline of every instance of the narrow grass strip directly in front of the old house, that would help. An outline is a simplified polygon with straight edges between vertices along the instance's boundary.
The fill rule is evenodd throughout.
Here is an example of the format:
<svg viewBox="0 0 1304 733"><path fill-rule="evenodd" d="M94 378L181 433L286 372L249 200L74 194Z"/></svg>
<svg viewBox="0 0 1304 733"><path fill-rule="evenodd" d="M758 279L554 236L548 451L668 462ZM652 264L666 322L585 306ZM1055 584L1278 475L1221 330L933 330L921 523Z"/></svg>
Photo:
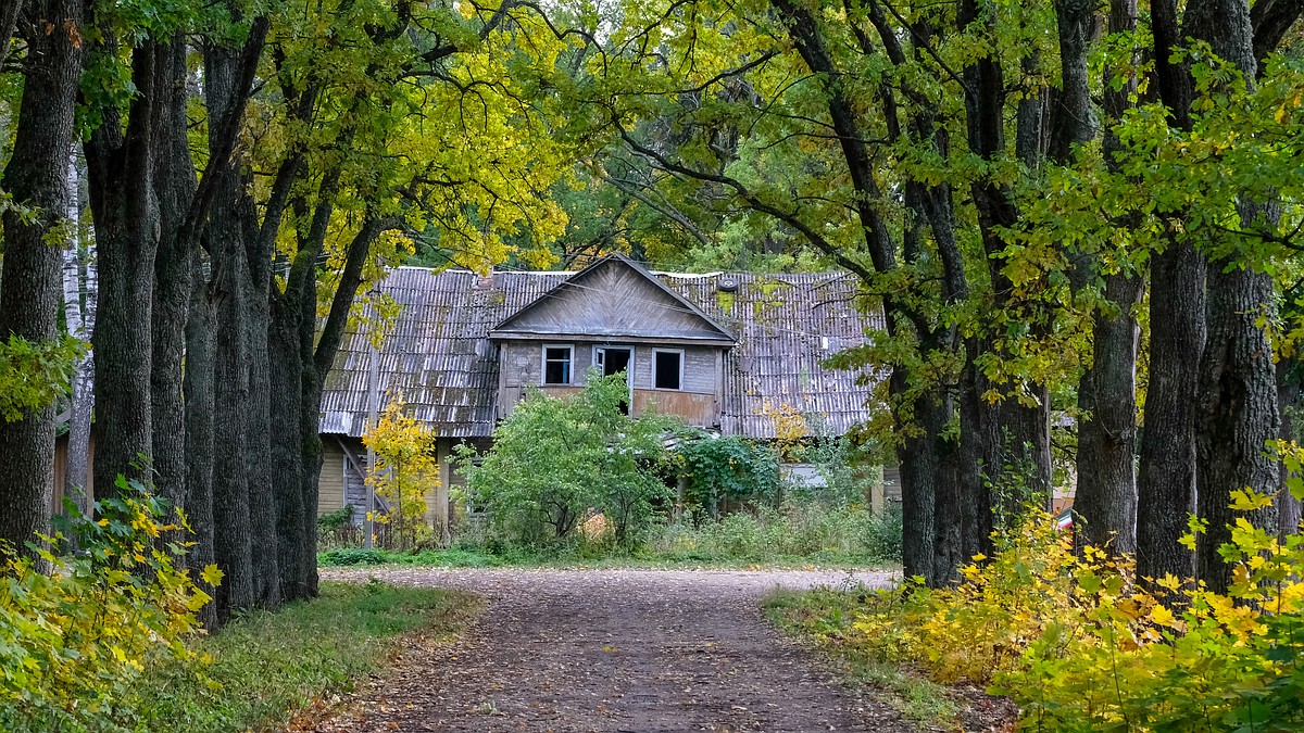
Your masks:
<svg viewBox="0 0 1304 733"><path fill-rule="evenodd" d="M339 548L317 554L321 567L352 566L408 566L408 567L566 567L566 569L648 569L648 570L895 570L891 562L879 558L844 553L814 553L808 556L755 554L720 557L692 552L645 552L638 554L542 556L510 552L503 554L482 549L438 549L419 552L393 552L386 549Z"/></svg>

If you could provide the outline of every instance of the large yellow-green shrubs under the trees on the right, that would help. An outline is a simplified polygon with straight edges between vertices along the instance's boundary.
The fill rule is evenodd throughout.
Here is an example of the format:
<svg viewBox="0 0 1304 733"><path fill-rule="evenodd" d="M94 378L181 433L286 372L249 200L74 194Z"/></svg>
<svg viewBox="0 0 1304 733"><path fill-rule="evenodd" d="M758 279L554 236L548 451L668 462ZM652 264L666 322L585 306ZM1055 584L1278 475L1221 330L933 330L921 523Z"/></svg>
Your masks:
<svg viewBox="0 0 1304 733"><path fill-rule="evenodd" d="M1304 496L1297 446L1279 446ZM1232 509L1271 502L1232 492ZM1193 546L1201 531L1192 520ZM941 682L991 685L1046 730L1304 729L1304 535L1237 518L1226 595L1172 576L1138 583L1107 550L1074 554L1045 511L998 535L955 588L865 596L846 643Z"/></svg>

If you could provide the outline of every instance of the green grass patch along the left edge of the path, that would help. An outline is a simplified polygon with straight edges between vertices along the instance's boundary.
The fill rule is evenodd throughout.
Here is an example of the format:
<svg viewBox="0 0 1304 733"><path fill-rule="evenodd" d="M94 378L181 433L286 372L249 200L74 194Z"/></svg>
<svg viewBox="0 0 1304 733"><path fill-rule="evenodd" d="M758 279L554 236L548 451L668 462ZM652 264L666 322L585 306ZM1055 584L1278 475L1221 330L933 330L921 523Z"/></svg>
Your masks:
<svg viewBox="0 0 1304 733"><path fill-rule="evenodd" d="M198 642L213 657L151 673L138 689L140 730L262 730L378 672L403 634L455 634L479 608L437 588L322 583L321 597L249 613Z"/></svg>

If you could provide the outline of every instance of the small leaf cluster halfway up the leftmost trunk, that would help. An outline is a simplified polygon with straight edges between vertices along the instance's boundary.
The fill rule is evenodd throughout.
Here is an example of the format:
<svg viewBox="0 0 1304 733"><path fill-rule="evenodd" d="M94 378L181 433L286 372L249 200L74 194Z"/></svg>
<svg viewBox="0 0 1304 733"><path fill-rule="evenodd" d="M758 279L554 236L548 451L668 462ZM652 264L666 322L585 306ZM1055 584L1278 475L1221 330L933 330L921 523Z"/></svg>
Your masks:
<svg viewBox="0 0 1304 733"><path fill-rule="evenodd" d="M39 343L9 335L0 342L0 417L23 419L68 393L73 363L86 355L86 343L70 335Z"/></svg>

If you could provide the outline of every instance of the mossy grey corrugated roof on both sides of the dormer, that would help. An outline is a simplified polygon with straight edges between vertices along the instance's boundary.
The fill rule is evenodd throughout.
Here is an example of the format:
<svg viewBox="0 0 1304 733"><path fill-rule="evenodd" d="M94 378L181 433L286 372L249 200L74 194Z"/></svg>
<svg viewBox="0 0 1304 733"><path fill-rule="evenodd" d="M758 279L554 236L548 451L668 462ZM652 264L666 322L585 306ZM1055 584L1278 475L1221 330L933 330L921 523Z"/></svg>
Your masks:
<svg viewBox="0 0 1304 733"><path fill-rule="evenodd" d="M402 390L419 420L439 436L493 433L498 360L490 329L552 291L574 273L494 273L399 267L381 283L402 307L381 347L381 391ZM773 437L764 404L788 403L820 413L845 433L868 417L876 377L824 369L831 353L865 343L882 329L855 308L857 280L845 273L687 275L652 273L661 283L728 327L738 344L725 357L721 430ZM721 279L738 283L720 291ZM361 436L366 421L368 342L351 333L322 394L322 433ZM857 383L865 381L866 383ZM383 399L383 398L382 398Z"/></svg>

